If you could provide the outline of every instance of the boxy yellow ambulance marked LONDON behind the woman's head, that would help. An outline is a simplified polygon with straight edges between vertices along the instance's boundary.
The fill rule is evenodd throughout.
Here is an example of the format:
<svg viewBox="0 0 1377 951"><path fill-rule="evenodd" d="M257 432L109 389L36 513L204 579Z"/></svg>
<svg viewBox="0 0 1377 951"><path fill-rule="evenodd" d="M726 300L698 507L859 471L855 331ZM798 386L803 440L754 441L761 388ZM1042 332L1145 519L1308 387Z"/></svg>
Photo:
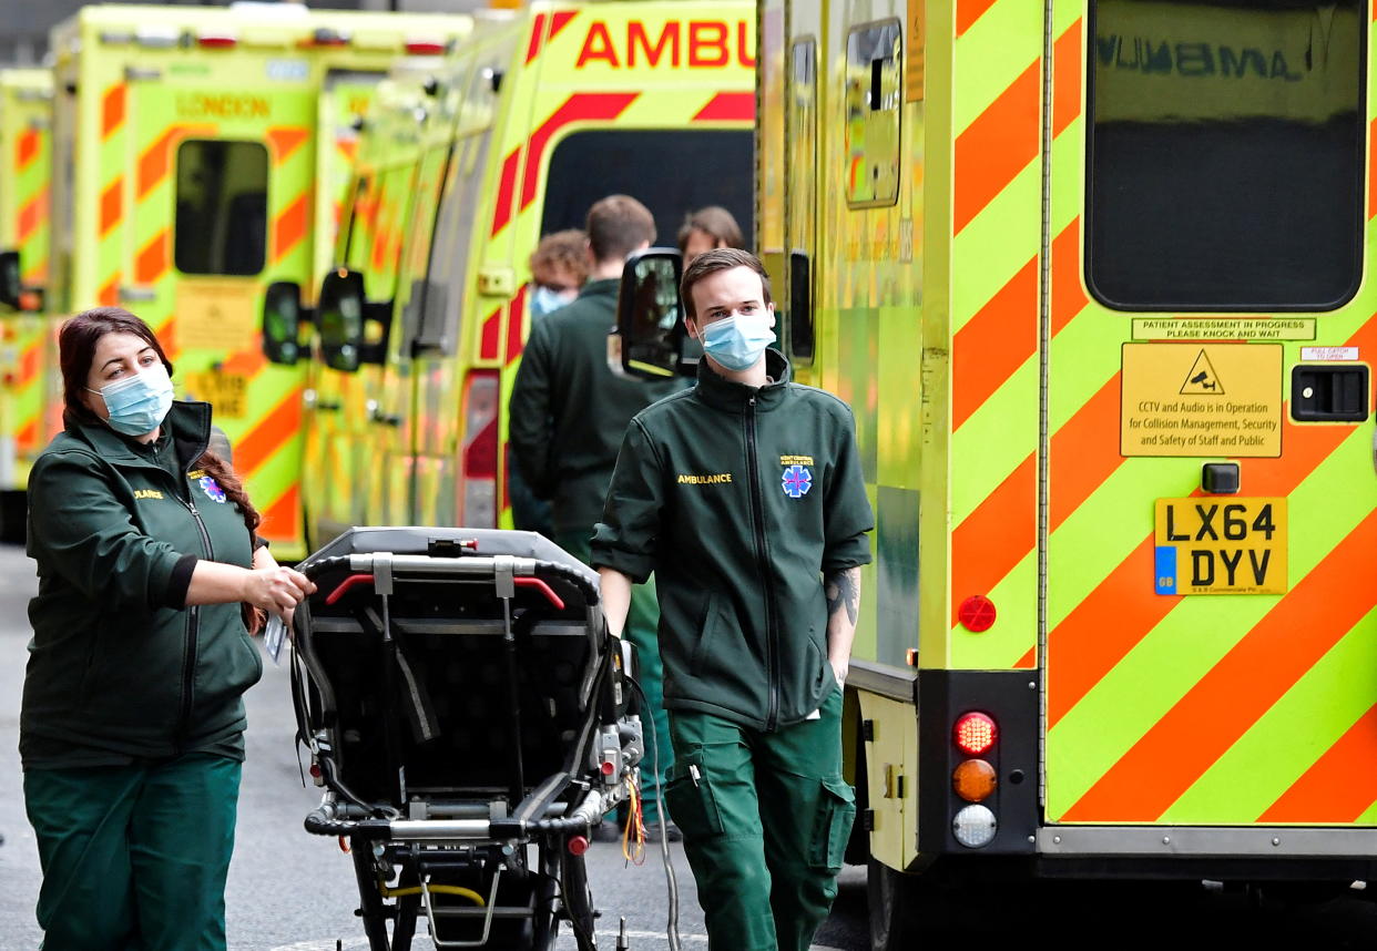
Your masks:
<svg viewBox="0 0 1377 951"><path fill-rule="evenodd" d="M114 304L215 405L280 559L300 557L302 366L269 362L269 284L329 264L355 120L465 15L91 6L52 32L56 312Z"/></svg>

